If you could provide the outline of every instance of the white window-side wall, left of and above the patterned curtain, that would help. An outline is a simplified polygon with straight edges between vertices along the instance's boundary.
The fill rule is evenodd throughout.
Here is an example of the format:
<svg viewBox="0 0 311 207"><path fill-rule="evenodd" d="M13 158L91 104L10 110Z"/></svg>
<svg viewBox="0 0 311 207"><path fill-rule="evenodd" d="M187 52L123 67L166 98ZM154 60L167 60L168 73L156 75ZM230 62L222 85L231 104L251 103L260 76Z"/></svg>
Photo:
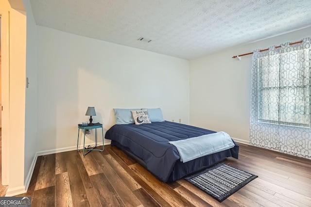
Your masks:
<svg viewBox="0 0 311 207"><path fill-rule="evenodd" d="M248 143L252 55L231 57L310 35L311 27L191 60L190 124Z"/></svg>

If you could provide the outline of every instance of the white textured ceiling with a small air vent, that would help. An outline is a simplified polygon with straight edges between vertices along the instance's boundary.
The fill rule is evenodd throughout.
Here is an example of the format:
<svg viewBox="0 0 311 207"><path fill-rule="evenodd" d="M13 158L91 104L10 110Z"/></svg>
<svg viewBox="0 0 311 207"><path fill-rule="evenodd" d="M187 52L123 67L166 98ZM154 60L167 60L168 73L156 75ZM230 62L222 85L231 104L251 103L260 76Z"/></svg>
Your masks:
<svg viewBox="0 0 311 207"><path fill-rule="evenodd" d="M37 25L184 59L311 26L311 0L30 1Z"/></svg>

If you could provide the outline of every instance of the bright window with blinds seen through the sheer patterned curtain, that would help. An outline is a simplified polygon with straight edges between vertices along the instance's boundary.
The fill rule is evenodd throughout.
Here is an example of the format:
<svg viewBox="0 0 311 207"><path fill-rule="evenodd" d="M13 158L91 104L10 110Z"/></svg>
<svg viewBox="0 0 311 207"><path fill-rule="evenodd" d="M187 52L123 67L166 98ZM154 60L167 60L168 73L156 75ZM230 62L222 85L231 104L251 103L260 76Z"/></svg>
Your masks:
<svg viewBox="0 0 311 207"><path fill-rule="evenodd" d="M258 58L258 121L310 127L309 49Z"/></svg>

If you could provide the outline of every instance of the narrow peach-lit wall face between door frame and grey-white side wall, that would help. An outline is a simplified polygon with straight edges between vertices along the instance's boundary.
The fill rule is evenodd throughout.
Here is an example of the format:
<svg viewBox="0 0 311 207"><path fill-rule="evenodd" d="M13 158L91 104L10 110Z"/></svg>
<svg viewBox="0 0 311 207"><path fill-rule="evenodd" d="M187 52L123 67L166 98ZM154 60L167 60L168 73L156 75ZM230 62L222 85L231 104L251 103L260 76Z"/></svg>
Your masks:
<svg viewBox="0 0 311 207"><path fill-rule="evenodd" d="M26 79L26 15L10 10L10 82L9 82L9 188L7 195L25 191L25 79ZM7 107L7 106L6 106ZM2 145L3 147L3 145Z"/></svg>

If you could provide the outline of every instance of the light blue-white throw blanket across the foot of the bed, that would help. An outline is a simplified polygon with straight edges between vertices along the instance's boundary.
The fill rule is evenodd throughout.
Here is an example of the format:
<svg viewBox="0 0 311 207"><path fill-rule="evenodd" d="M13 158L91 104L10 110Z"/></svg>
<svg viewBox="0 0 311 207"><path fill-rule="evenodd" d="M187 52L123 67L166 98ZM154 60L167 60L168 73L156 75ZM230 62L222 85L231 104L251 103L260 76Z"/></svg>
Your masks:
<svg viewBox="0 0 311 207"><path fill-rule="evenodd" d="M185 140L169 142L173 144L180 155L180 161L188 162L216 152L234 147L230 136L224 131L193 137Z"/></svg>

